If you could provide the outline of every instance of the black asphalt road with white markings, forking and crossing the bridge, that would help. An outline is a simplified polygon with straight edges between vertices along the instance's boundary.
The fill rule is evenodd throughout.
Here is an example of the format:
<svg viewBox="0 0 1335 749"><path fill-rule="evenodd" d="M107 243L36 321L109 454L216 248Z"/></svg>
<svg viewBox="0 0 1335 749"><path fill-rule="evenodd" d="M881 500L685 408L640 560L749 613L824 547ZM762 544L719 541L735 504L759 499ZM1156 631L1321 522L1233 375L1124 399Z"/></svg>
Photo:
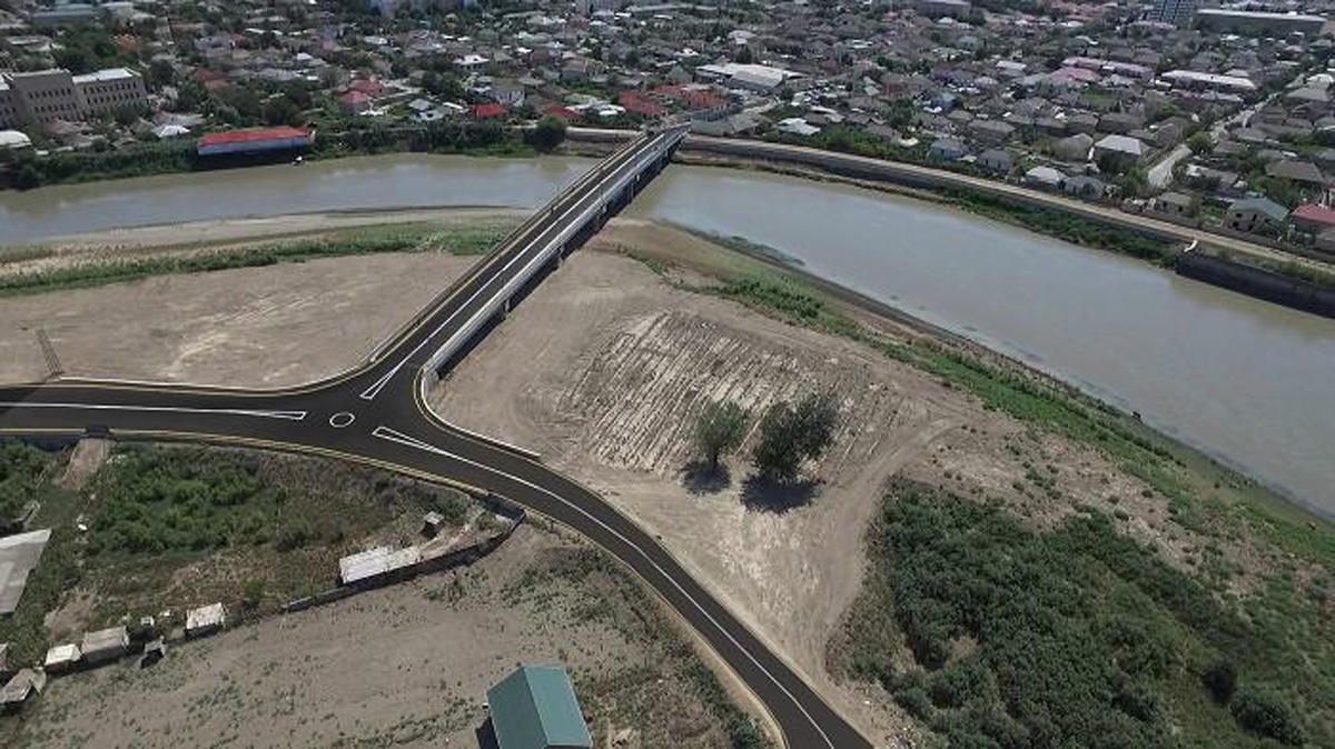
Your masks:
<svg viewBox="0 0 1335 749"><path fill-rule="evenodd" d="M522 450L450 426L426 408L437 352L485 332L530 272L559 260L551 245L595 231L621 185L646 184L684 131L642 136L517 228L474 271L442 292L362 367L282 390L59 380L0 386L0 434L190 440L315 453L507 497L551 517L629 565L676 609L765 704L794 749L870 746L789 665L737 621L654 538L595 493ZM662 156L659 156L662 155ZM615 203L609 211L602 205ZM575 241L565 241L573 245ZM518 363L517 363L518 364Z"/></svg>

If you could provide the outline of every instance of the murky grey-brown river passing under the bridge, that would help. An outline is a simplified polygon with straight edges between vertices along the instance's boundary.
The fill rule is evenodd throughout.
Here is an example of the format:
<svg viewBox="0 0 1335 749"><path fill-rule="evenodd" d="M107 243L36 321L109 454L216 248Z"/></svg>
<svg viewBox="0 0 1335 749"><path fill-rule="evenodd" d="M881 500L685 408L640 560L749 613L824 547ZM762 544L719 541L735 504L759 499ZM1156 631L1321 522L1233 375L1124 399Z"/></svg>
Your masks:
<svg viewBox="0 0 1335 749"><path fill-rule="evenodd" d="M396 155L0 193L0 243L403 205L538 205L579 159ZM742 236L1057 374L1335 517L1335 320L860 188L674 165L629 215Z"/></svg>

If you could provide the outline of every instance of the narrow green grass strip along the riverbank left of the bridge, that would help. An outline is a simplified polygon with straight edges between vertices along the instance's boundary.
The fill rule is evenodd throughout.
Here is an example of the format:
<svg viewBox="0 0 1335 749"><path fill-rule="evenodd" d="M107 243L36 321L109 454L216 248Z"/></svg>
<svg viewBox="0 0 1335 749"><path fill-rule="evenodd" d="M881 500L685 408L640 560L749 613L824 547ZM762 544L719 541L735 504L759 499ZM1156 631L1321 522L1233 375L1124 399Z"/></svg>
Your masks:
<svg viewBox="0 0 1335 749"><path fill-rule="evenodd" d="M80 289L138 281L170 273L207 273L236 268L258 268L279 263L302 263L320 257L376 255L386 252L449 252L485 255L501 239L505 227L394 228L367 231L340 239L316 239L266 244L240 249L220 249L188 256L144 257L84 263L64 268L0 276L0 296L19 296L64 289Z"/></svg>

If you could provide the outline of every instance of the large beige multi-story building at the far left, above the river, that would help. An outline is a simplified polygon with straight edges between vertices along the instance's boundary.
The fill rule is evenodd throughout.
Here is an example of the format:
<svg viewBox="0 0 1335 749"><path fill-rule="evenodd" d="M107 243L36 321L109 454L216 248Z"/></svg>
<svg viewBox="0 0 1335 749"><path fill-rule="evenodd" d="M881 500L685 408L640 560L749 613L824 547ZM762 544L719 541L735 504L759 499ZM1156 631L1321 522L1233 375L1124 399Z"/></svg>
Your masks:
<svg viewBox="0 0 1335 749"><path fill-rule="evenodd" d="M128 68L72 76L53 68L0 73L0 128L51 120L87 120L124 107L147 107L144 79Z"/></svg>

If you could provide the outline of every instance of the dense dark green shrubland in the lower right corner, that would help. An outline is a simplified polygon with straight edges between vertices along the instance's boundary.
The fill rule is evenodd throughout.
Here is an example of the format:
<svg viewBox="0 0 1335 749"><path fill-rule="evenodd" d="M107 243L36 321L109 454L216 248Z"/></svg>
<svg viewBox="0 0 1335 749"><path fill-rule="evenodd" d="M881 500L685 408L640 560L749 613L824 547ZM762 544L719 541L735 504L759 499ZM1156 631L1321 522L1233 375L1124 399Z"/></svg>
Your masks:
<svg viewBox="0 0 1335 749"><path fill-rule="evenodd" d="M906 481L869 548L841 665L951 745L1335 741L1328 614L1283 584L1220 600L1107 516L1035 532Z"/></svg>

